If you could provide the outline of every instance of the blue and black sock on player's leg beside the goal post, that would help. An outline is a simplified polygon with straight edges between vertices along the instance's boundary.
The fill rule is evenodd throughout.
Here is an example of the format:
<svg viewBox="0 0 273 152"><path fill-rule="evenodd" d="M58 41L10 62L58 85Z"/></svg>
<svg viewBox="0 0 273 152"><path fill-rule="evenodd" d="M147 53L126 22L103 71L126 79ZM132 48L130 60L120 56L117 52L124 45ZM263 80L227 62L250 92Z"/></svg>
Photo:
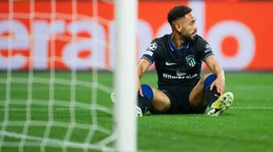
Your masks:
<svg viewBox="0 0 273 152"><path fill-rule="evenodd" d="M151 101L154 98L153 90L147 84L141 85L142 97L139 92L137 93L137 106L141 109L142 113L145 114L150 109Z"/></svg>

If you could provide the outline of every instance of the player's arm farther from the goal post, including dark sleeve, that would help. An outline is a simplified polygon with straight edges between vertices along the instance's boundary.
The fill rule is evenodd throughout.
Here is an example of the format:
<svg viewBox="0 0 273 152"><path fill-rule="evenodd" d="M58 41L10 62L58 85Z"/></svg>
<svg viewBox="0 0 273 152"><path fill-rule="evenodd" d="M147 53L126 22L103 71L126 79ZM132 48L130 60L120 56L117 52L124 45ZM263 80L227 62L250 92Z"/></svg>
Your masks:
<svg viewBox="0 0 273 152"><path fill-rule="evenodd" d="M217 91L222 95L225 91L225 73L217 62L217 59L212 52L212 48L204 39L198 41L197 50L199 53L199 57L203 62L206 62L207 67L212 71L215 75L217 75L216 81L214 81L211 86L210 90L215 86Z"/></svg>

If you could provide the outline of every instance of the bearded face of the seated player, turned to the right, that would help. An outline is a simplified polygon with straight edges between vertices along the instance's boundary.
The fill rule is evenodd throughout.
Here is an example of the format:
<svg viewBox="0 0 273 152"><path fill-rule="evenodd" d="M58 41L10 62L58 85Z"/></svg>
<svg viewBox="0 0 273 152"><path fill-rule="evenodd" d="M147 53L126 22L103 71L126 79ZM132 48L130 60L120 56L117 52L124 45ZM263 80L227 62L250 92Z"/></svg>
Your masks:
<svg viewBox="0 0 273 152"><path fill-rule="evenodd" d="M193 14L186 14L184 18L177 21L180 24L177 28L177 32L184 40L193 40L197 33L196 18Z"/></svg>

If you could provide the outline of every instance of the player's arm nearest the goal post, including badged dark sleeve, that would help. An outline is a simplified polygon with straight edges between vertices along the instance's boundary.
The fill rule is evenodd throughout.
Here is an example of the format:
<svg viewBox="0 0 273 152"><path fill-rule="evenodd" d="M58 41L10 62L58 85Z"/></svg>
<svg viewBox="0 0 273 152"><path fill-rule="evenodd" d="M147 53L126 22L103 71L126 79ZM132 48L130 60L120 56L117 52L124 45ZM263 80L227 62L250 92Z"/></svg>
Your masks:
<svg viewBox="0 0 273 152"><path fill-rule="evenodd" d="M148 70L148 68L153 64L153 62L156 61L157 54L162 50L162 47L156 42L153 41L150 43L150 45L147 47L147 52L143 54L141 57L140 61L138 62L136 66L136 70L138 73L138 78L137 78L137 90L139 91L139 94L143 96L142 90L140 87L140 80L143 74Z"/></svg>

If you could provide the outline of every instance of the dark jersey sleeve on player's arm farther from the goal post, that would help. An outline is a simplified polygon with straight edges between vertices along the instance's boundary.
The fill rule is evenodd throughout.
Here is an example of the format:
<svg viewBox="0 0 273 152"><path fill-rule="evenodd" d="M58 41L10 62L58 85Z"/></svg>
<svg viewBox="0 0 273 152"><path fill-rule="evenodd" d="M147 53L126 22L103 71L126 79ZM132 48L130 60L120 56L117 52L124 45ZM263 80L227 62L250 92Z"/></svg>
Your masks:
<svg viewBox="0 0 273 152"><path fill-rule="evenodd" d="M210 55L214 55L212 52L212 48L210 47L209 43L206 40L200 39L197 45L198 54L200 60L205 62L206 58Z"/></svg>

